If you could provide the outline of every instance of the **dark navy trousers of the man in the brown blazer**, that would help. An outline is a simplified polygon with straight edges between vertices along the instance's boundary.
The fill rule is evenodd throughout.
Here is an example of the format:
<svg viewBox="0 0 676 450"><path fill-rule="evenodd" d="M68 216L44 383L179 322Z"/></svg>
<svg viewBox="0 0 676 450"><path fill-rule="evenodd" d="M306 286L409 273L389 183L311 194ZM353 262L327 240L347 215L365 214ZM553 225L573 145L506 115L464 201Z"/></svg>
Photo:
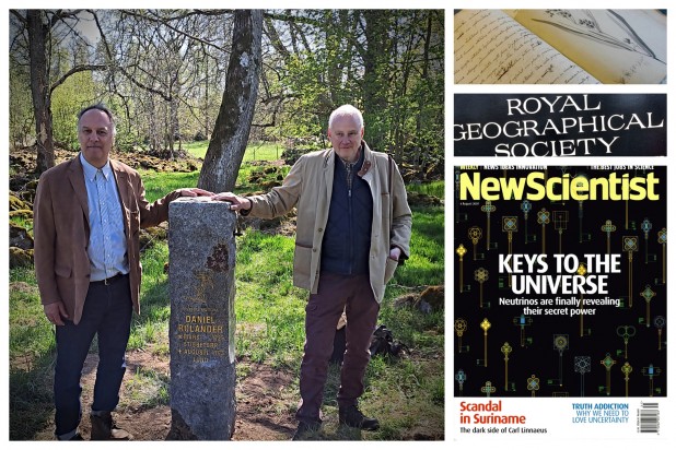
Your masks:
<svg viewBox="0 0 676 450"><path fill-rule="evenodd" d="M113 411L125 376L125 352L131 323L129 277L109 285L90 284L77 325L66 321L56 328L57 362L54 375L57 436L74 430L82 418L80 378L94 335L98 334L98 367L93 411Z"/></svg>

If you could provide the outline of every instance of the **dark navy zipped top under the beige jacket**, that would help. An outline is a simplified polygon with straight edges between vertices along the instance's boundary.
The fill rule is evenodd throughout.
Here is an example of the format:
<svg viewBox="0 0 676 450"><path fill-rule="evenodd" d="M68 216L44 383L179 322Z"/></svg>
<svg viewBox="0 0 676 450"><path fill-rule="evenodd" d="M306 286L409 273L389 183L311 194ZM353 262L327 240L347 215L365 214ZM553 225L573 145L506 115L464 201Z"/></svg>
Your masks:
<svg viewBox="0 0 676 450"><path fill-rule="evenodd" d="M334 190L322 242L322 272L341 275L369 273L373 198L369 183L357 175L364 152L357 163L346 164L335 156Z"/></svg>

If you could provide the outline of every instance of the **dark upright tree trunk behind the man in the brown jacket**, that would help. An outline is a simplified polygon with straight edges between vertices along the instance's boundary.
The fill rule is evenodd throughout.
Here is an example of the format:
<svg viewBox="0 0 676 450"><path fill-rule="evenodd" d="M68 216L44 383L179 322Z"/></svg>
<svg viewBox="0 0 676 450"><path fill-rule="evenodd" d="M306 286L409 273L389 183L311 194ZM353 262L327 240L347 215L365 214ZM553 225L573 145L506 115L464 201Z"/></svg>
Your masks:
<svg viewBox="0 0 676 450"><path fill-rule="evenodd" d="M35 111L35 135L37 137L37 166L42 174L54 167L54 138L51 127L51 92L49 91L49 66L47 63L47 39L49 25L44 22L44 11L27 10L28 55L31 58L31 95Z"/></svg>

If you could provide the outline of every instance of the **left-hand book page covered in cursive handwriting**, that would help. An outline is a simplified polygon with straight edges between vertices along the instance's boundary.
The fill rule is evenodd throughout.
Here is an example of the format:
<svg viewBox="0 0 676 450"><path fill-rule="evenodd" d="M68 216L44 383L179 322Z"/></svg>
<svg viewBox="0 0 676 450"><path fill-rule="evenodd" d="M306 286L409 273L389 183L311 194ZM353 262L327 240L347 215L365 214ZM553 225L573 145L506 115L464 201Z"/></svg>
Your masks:
<svg viewBox="0 0 676 450"><path fill-rule="evenodd" d="M598 83L541 38L499 10L455 14L455 83Z"/></svg>

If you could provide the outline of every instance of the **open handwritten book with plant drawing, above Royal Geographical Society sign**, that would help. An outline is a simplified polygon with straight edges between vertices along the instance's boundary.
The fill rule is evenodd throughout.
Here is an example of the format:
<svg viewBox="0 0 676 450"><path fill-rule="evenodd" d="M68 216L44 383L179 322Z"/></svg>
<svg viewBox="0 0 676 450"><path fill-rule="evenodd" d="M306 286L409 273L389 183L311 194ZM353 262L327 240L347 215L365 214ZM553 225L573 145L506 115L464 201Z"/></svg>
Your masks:
<svg viewBox="0 0 676 450"><path fill-rule="evenodd" d="M657 10L462 10L457 84L666 82Z"/></svg>

